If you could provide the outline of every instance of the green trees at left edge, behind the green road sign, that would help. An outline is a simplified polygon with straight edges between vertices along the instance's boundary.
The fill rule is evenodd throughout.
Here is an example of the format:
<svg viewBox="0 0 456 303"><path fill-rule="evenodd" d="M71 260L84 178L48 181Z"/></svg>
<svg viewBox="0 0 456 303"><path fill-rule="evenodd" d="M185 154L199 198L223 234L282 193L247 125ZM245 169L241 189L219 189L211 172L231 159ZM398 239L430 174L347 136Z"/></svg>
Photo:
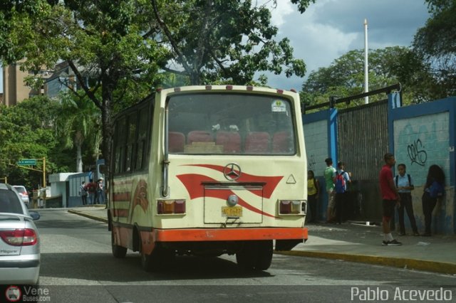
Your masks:
<svg viewBox="0 0 456 303"><path fill-rule="evenodd" d="M46 172L68 171L70 155L58 146L53 135L52 117L58 104L46 97L32 97L14 107L0 106L0 176L10 184L36 187L42 184L42 173L14 166L20 159L46 158ZM53 155L58 154L61 159ZM38 160L37 168L42 168ZM13 164L13 165L10 165Z"/></svg>

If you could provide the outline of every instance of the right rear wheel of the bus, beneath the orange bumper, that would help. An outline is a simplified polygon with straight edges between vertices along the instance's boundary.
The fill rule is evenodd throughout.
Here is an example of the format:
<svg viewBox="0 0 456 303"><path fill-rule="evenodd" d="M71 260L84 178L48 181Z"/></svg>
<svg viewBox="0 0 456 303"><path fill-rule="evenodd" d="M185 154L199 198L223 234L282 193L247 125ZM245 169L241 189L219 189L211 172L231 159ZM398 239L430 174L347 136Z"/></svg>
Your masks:
<svg viewBox="0 0 456 303"><path fill-rule="evenodd" d="M249 241L236 253L236 261L244 270L267 270L272 261L272 241Z"/></svg>

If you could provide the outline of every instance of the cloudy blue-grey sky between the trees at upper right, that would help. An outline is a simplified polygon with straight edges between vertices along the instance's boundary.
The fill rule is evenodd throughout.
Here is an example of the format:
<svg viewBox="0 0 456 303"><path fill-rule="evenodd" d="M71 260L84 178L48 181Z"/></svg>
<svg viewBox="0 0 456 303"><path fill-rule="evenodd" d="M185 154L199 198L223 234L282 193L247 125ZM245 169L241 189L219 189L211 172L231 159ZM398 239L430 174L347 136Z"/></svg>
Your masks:
<svg viewBox="0 0 456 303"><path fill-rule="evenodd" d="M258 4L271 0L257 0ZM304 14L289 0L277 0L272 11L279 28L277 40L288 37L294 57L304 59L307 75L327 67L349 50L364 49L364 19L368 20L368 47L410 46L429 14L424 0L316 0ZM304 79L268 75L269 85L301 90ZM0 73L0 92L3 80Z"/></svg>

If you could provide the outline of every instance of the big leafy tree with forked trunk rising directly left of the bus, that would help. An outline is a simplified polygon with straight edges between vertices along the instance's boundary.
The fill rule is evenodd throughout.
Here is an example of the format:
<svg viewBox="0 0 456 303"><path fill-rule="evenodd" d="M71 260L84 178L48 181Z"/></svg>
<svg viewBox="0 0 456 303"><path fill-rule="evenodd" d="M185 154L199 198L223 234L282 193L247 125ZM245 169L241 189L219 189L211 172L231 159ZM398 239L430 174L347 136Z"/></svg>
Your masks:
<svg viewBox="0 0 456 303"><path fill-rule="evenodd" d="M155 40L150 4L145 0L40 4L41 14L11 17L16 26L9 40L16 47L16 58L26 57L24 69L35 71L66 60L82 88L74 93L83 92L100 109L103 156L109 162L115 105L124 107L145 97L167 53ZM135 89L128 96L133 100L125 100L125 89L131 87Z"/></svg>

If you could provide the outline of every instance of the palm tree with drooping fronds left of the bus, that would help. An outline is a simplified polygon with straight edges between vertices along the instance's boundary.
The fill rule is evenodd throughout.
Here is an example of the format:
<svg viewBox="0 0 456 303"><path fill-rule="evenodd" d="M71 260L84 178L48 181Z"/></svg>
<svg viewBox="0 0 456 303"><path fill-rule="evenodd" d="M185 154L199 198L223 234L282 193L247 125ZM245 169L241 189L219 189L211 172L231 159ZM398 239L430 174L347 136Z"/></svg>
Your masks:
<svg viewBox="0 0 456 303"><path fill-rule="evenodd" d="M91 148L93 158L98 159L101 143L100 110L88 97L68 93L61 96L60 106L56 116L56 137L63 142L65 148L76 148L76 171L82 172L84 142Z"/></svg>

